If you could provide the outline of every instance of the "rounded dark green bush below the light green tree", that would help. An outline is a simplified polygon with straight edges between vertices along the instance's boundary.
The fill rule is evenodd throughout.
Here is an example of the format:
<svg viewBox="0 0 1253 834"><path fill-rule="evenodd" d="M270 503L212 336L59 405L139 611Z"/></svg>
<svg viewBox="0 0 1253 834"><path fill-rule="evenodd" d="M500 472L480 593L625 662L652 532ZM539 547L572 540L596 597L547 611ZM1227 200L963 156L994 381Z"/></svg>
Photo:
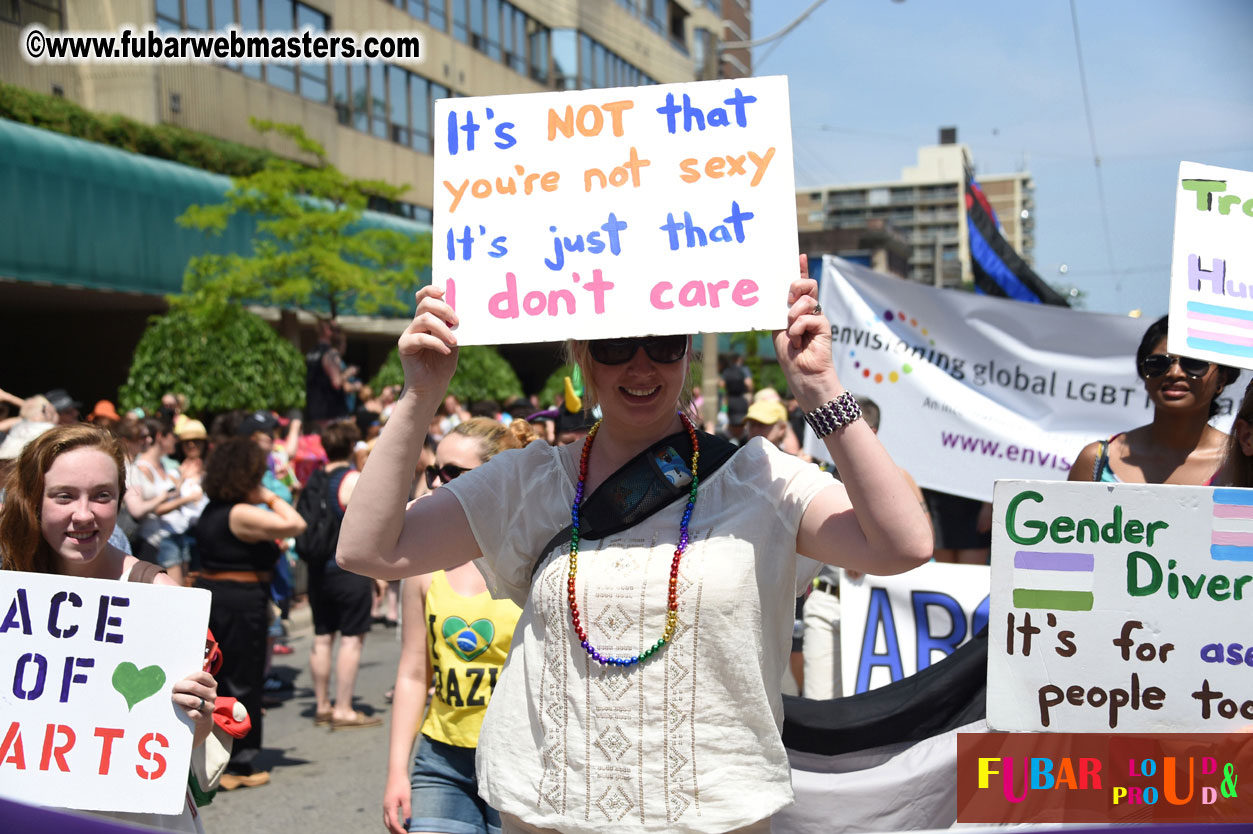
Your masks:
<svg viewBox="0 0 1253 834"><path fill-rule="evenodd" d="M283 411L304 404L304 357L238 306L172 309L149 319L118 398L152 412L167 391L185 393L192 413Z"/></svg>

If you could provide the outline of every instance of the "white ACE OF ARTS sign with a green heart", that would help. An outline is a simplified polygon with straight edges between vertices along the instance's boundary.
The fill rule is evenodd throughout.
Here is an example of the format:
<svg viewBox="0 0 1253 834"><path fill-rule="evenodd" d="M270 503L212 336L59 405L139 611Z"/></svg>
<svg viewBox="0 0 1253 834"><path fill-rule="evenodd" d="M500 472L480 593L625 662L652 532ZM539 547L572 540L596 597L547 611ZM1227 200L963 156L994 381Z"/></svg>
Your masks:
<svg viewBox="0 0 1253 834"><path fill-rule="evenodd" d="M0 571L0 796L178 814L209 592Z"/></svg>

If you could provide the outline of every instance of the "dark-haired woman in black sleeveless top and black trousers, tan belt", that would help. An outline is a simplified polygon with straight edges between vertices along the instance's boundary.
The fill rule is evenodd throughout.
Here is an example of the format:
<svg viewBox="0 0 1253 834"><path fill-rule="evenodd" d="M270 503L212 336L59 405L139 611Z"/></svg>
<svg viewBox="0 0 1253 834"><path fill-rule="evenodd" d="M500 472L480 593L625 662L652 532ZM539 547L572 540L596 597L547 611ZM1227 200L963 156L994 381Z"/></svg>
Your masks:
<svg viewBox="0 0 1253 834"><path fill-rule="evenodd" d="M222 646L222 691L237 698L252 716L252 730L236 741L222 774L226 790L269 781L269 773L257 770L254 760L262 741L269 582L279 555L274 540L304 530L299 513L261 486L264 472L261 447L248 437L233 437L209 453L202 481L209 503L195 532L200 556L195 587L213 592L209 629Z"/></svg>

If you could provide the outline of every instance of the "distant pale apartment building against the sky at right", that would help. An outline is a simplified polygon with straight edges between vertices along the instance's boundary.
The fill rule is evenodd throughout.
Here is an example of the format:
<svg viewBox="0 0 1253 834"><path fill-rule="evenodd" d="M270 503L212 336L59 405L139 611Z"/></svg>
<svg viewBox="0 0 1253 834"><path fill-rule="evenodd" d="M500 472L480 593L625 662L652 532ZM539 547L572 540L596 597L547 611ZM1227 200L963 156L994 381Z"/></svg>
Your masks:
<svg viewBox="0 0 1253 834"><path fill-rule="evenodd" d="M898 180L799 189L797 225L802 235L885 220L910 244L907 278L944 287L972 282L965 172L974 169L974 160L970 148L957 143L956 133L941 129L940 144L918 148L917 164L903 168ZM1030 172L979 174L977 180L1005 239L1034 264L1035 185Z"/></svg>

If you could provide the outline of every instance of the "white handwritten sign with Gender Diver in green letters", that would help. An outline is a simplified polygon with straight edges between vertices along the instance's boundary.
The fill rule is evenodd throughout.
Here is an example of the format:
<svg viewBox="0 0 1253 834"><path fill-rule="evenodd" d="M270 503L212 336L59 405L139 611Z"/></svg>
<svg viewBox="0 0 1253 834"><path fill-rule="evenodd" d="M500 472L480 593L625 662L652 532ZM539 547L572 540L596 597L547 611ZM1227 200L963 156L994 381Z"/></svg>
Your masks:
<svg viewBox="0 0 1253 834"><path fill-rule="evenodd" d="M997 481L987 723L1253 724L1253 490Z"/></svg>

